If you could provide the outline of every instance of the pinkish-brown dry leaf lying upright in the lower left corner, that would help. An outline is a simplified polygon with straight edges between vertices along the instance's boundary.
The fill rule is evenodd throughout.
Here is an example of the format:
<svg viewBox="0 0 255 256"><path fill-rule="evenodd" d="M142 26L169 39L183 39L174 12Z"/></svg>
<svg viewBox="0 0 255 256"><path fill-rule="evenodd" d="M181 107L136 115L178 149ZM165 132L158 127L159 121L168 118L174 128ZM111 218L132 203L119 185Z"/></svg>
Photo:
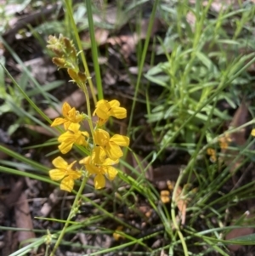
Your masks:
<svg viewBox="0 0 255 256"><path fill-rule="evenodd" d="M14 206L14 214L17 228L20 229L33 229L33 224L31 220L30 208L27 202L26 194L21 193L18 202ZM19 242L25 242L28 239L35 238L35 233L33 231L18 231ZM25 246L22 243L22 246Z"/></svg>

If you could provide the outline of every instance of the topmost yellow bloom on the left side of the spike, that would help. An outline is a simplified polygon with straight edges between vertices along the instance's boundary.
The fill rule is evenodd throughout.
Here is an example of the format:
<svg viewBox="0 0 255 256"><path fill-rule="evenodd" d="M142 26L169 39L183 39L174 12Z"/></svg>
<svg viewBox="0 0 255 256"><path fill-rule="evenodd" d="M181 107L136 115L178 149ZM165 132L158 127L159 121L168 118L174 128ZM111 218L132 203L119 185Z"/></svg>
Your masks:
<svg viewBox="0 0 255 256"><path fill-rule="evenodd" d="M67 130L67 128L69 128L72 122L78 123L81 122L83 119L79 111L77 111L75 107L71 108L71 106L67 102L65 102L62 106L62 113L64 118L56 118L54 122L51 124L51 127L64 124L65 130Z"/></svg>

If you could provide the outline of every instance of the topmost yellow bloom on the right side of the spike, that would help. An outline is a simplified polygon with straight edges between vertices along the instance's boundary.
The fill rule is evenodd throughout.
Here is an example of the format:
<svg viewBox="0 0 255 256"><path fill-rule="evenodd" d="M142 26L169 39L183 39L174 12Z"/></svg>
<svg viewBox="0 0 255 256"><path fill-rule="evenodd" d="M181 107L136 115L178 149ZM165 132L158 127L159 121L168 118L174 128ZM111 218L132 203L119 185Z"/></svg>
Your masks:
<svg viewBox="0 0 255 256"><path fill-rule="evenodd" d="M120 102L118 100L99 100L93 113L93 116L95 115L99 117L98 123L99 126L101 126L111 116L118 119L123 119L127 117L127 110L123 107L120 107Z"/></svg>

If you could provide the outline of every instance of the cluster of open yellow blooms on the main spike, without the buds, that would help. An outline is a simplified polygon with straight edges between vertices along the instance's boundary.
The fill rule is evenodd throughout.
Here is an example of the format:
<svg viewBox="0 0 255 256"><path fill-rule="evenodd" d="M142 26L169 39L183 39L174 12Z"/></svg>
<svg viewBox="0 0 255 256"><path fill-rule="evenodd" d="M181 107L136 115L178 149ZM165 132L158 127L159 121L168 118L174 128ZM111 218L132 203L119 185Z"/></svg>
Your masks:
<svg viewBox="0 0 255 256"><path fill-rule="evenodd" d="M96 189L105 187L105 177L110 180L115 179L117 170L113 168L123 156L121 146L129 145L129 138L115 134L112 137L101 126L109 117L124 118L127 116L126 109L119 106L117 100L99 100L94 115L97 115L98 122L94 128L92 138L87 131L81 131L81 122L84 115L80 114L75 108L65 102L62 108L63 117L56 118L51 124L52 127L64 124L65 133L59 136L59 151L66 154L71 151L73 145L82 145L91 153L81 161L88 174L94 175L94 186ZM107 108L112 106L110 109ZM99 113L99 114L98 114ZM91 141L90 141L91 140ZM76 161L75 161L76 162ZM74 179L81 178L80 171L74 171L72 166L75 162L67 164L65 160L58 156L54 159L55 169L49 171L50 178L53 180L61 179L60 189L71 191L74 185ZM65 178L64 178L65 177ZM64 179L63 179L64 178Z"/></svg>

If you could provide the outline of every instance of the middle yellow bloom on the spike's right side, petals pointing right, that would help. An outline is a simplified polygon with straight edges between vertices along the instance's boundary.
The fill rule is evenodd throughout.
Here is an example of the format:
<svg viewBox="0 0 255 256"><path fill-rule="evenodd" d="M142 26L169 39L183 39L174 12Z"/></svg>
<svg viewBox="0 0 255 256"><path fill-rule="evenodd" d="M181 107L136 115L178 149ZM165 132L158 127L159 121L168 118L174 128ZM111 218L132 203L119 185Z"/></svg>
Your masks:
<svg viewBox="0 0 255 256"><path fill-rule="evenodd" d="M116 160L123 156L120 146L128 146L129 138L119 134L115 134L110 138L110 135L105 130L96 129L94 132L94 143L101 146L112 160Z"/></svg>

